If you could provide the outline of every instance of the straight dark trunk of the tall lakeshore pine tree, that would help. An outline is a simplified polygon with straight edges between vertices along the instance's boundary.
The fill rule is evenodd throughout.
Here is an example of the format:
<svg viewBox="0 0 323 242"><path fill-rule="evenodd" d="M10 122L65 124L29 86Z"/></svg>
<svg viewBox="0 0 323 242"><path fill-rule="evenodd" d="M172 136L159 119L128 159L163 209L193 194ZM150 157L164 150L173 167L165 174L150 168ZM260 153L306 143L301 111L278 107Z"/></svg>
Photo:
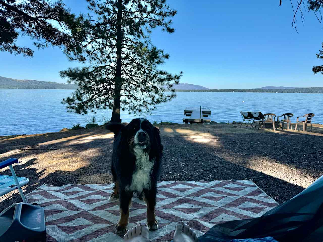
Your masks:
<svg viewBox="0 0 323 242"><path fill-rule="evenodd" d="M118 0L118 18L117 18L117 61L116 78L114 87L114 100L112 108L111 122L121 122L120 120L120 98L121 98L121 50L122 50L122 0Z"/></svg>

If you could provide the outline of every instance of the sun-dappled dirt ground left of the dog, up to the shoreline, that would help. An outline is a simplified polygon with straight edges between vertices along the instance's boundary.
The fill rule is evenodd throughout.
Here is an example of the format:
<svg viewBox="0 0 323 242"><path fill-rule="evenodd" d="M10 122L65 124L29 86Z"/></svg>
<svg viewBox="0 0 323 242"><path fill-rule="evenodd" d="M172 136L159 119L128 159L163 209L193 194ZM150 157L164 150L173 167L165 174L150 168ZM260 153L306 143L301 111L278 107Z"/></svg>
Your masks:
<svg viewBox="0 0 323 242"><path fill-rule="evenodd" d="M110 183L110 154L113 134L106 129L76 130L0 140L0 160L18 158L17 176L27 177L27 194L43 183L60 186L70 183ZM29 149L29 150L28 150ZM1 175L11 176L8 168ZM0 197L0 211L21 201L17 190Z"/></svg>

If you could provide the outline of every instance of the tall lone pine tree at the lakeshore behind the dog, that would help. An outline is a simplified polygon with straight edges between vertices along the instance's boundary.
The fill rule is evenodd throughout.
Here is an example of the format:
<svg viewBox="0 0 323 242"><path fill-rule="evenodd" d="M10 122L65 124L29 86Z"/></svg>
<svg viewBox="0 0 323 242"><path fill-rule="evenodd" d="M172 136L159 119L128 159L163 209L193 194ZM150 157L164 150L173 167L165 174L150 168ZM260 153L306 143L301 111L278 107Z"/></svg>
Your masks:
<svg viewBox="0 0 323 242"><path fill-rule="evenodd" d="M151 43L150 35L158 26L173 33L176 11L165 0L87 1L91 13L66 49L68 58L83 66L60 72L79 86L62 101L68 112L112 109L111 122L119 122L120 110L150 114L171 100L172 85L179 83L182 72L172 75L158 69L169 55Z"/></svg>

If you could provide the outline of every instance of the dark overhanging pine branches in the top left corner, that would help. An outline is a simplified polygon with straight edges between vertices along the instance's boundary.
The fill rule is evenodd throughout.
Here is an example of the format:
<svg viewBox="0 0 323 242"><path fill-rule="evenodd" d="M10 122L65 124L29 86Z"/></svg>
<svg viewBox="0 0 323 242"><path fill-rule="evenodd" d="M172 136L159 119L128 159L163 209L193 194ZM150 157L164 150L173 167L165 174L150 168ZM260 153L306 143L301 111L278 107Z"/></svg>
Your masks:
<svg viewBox="0 0 323 242"><path fill-rule="evenodd" d="M19 34L35 39L38 49L49 44L63 48L71 34L78 31L77 25L75 15L62 1L0 0L0 51L32 57L32 49L16 45Z"/></svg>

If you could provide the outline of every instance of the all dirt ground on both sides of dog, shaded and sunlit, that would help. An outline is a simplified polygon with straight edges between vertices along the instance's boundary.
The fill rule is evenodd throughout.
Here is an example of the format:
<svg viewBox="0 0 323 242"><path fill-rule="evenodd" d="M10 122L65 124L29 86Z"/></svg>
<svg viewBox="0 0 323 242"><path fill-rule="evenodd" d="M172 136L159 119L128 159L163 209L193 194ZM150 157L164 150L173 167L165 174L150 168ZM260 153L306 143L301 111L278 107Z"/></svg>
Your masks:
<svg viewBox="0 0 323 242"><path fill-rule="evenodd" d="M323 126L314 132L234 128L232 124L161 125L164 146L160 180L251 179L278 203L323 175ZM295 127L295 126L294 126ZM0 137L0 161L19 158L17 176L29 178L25 194L43 183L111 183L113 134L93 129ZM8 168L1 175L11 175ZM0 197L0 211L21 198Z"/></svg>

